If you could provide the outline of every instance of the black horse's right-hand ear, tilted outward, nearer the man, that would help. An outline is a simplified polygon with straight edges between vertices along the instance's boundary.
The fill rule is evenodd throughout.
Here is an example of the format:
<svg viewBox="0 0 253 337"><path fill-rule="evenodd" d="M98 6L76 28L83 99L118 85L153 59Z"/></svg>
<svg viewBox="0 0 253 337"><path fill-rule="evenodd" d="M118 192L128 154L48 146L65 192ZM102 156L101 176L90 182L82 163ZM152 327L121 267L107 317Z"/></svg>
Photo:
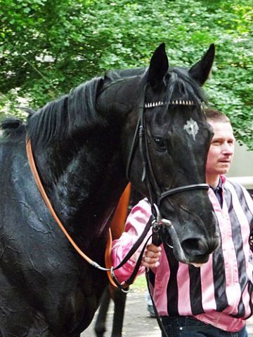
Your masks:
<svg viewBox="0 0 253 337"><path fill-rule="evenodd" d="M195 65L193 65L193 67L189 70L190 75L193 79L195 79L195 81L197 81L198 84L200 84L200 86L202 86L209 77L214 63L214 55L214 44L210 44L207 53L205 53L202 59L195 63Z"/></svg>

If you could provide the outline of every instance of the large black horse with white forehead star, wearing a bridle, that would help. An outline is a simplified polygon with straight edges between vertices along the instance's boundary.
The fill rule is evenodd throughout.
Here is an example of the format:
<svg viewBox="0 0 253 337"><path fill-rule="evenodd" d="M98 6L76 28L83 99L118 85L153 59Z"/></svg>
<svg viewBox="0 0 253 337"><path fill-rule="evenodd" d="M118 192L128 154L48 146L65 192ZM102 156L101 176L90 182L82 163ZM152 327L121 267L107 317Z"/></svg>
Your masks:
<svg viewBox="0 0 253 337"><path fill-rule="evenodd" d="M213 60L211 45L189 71L169 67L161 44L147 69L107 72L48 103L26 124L3 124L1 337L77 337L108 284L105 272L74 251L41 199L27 161L27 139L53 209L92 260L103 265L127 171L136 190L160 204L162 216L173 223L176 258L207 261L219 238L202 184L212 131L200 86ZM185 185L195 187L162 194Z"/></svg>

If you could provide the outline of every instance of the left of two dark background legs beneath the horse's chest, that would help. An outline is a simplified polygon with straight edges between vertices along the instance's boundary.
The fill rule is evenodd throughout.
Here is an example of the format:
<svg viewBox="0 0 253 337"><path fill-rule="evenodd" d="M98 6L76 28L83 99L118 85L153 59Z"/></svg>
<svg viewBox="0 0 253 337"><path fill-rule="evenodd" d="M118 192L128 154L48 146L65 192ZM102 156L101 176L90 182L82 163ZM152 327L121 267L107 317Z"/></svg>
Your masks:
<svg viewBox="0 0 253 337"><path fill-rule="evenodd" d="M105 322L106 322L106 317L107 317L108 308L110 304L110 298L111 296L110 296L109 287L107 287L101 298L101 303L100 303L100 307L98 310L98 317L96 319L96 324L94 327L94 331L97 337L103 337L103 334L106 331Z"/></svg>

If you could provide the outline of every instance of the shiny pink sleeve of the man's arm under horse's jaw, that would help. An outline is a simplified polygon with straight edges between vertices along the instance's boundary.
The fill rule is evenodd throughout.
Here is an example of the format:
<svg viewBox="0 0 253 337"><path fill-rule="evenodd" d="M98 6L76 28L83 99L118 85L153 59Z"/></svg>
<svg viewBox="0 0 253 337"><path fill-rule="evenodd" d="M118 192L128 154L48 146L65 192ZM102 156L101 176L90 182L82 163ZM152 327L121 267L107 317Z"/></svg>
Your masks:
<svg viewBox="0 0 253 337"><path fill-rule="evenodd" d="M123 260L124 256L129 252L132 246L134 246L138 237L141 236L146 223L151 216L150 204L147 199L141 200L136 206L133 207L131 213L126 219L126 227L122 236L119 239L116 239L112 242L112 252L111 252L111 260L113 267L119 265L119 263ZM152 230L148 232L146 238L143 240L143 244L145 243L148 236L152 234ZM136 260L141 252L143 244L137 249L136 253L118 270L115 270L115 276L117 277L119 282L124 282L128 279L131 273L134 270L134 266L136 265ZM138 271L138 275L143 274L145 272L145 267L140 267Z"/></svg>

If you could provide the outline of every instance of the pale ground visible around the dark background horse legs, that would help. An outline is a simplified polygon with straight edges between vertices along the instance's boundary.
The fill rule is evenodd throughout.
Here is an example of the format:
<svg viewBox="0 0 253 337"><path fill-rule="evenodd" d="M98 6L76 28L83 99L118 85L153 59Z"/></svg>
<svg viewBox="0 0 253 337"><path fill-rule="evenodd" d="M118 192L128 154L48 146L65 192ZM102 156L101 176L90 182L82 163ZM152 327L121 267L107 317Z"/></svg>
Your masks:
<svg viewBox="0 0 253 337"><path fill-rule="evenodd" d="M112 315L113 315L113 305L110 303L110 308L108 312L108 324L104 337L110 337L111 327L112 327ZM82 337L96 337L93 324L95 322L96 316L93 322L82 333ZM247 322L247 331L249 337L253 337L253 318L249 319ZM145 291L144 290L132 290L127 294L126 299L126 311L124 316L124 326L123 333L124 337L160 337L160 328L157 325L157 320L150 318L148 310L145 303Z"/></svg>

